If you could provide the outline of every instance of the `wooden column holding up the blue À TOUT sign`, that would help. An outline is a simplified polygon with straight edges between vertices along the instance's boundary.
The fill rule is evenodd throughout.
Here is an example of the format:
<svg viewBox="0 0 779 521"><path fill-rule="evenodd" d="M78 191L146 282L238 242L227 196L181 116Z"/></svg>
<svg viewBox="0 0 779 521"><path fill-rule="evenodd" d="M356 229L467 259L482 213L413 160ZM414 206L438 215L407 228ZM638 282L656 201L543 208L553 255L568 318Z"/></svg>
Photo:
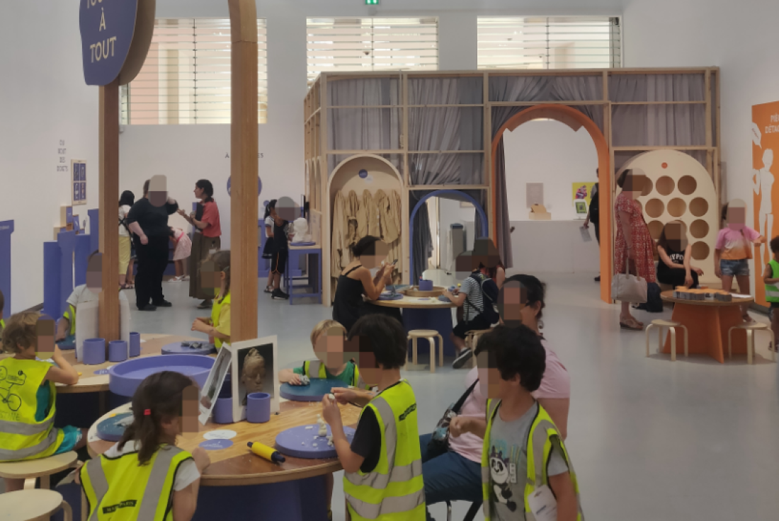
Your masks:
<svg viewBox="0 0 779 521"><path fill-rule="evenodd" d="M119 80L100 87L100 338L119 340Z"/></svg>

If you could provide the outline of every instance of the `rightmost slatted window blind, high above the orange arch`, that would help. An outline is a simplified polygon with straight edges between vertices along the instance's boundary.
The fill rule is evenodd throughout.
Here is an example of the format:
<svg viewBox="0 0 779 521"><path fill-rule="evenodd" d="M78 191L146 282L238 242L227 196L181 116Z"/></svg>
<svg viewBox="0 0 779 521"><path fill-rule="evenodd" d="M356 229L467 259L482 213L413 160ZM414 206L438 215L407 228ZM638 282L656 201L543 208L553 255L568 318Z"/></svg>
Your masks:
<svg viewBox="0 0 779 521"><path fill-rule="evenodd" d="M479 69L612 69L622 66L617 17L478 18Z"/></svg>

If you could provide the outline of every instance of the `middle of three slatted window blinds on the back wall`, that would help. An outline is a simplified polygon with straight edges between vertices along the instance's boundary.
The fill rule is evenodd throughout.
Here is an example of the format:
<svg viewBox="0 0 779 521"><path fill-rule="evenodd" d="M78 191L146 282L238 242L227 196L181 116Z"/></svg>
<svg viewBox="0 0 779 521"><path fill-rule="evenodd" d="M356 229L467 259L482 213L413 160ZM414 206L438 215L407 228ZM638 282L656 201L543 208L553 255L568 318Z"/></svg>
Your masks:
<svg viewBox="0 0 779 521"><path fill-rule="evenodd" d="M308 83L322 72L438 69L436 18L309 18Z"/></svg>

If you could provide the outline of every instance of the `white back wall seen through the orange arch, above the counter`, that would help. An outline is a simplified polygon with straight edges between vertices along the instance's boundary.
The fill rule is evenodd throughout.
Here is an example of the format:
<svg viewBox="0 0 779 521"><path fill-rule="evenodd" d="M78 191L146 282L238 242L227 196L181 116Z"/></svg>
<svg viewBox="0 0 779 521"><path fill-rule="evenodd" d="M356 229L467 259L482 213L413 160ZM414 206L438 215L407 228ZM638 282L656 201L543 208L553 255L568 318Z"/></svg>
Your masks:
<svg viewBox="0 0 779 521"><path fill-rule="evenodd" d="M595 182L597 151L587 130L574 132L554 120L528 121L503 135L509 220L530 220L525 185L544 184L544 204L552 220L574 220L572 185Z"/></svg>

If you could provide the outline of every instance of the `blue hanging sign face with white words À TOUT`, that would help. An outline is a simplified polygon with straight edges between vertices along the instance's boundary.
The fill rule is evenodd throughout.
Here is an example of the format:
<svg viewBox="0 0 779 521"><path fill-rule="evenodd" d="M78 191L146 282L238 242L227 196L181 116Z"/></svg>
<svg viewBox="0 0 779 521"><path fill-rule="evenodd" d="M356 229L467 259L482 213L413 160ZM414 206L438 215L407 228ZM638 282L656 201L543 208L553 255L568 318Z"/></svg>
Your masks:
<svg viewBox="0 0 779 521"><path fill-rule="evenodd" d="M80 0L81 55L87 85L119 77L136 29L139 0Z"/></svg>

